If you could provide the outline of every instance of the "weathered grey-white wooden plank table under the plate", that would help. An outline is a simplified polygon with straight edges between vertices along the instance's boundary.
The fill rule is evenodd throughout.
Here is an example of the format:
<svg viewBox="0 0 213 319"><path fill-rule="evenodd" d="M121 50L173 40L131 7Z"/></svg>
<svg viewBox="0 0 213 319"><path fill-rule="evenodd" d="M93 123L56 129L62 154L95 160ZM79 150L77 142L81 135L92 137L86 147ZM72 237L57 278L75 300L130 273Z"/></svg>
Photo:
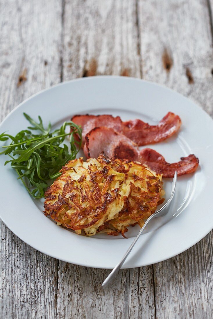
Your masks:
<svg viewBox="0 0 213 319"><path fill-rule="evenodd" d="M167 85L213 116L213 0L0 3L1 120L43 88L99 74ZM48 257L1 222L0 318L213 318L212 240L102 291L109 270Z"/></svg>

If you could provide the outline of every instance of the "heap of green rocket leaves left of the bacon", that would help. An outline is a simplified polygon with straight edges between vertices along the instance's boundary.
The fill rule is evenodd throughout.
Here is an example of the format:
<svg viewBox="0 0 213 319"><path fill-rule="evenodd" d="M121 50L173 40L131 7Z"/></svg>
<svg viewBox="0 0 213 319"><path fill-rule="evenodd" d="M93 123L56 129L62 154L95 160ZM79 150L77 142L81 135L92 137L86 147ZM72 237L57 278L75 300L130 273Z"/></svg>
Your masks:
<svg viewBox="0 0 213 319"><path fill-rule="evenodd" d="M38 123L26 113L24 116L31 126L16 136L6 132L0 134L0 141L11 139L10 145L2 146L0 154L10 156L5 165L10 163L28 192L34 198L41 198L52 181L61 175L61 167L75 159L81 147L82 130L73 122L64 122L59 129L51 132L51 123L45 129L40 116ZM67 126L71 133L65 132ZM66 136L69 136L70 152L66 144L62 145Z"/></svg>

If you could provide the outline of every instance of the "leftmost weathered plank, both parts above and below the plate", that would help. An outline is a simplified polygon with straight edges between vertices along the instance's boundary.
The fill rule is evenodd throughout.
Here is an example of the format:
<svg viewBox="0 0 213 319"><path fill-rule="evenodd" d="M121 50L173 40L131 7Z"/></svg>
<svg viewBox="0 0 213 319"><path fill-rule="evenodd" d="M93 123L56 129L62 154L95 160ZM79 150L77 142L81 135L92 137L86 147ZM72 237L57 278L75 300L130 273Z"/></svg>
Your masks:
<svg viewBox="0 0 213 319"><path fill-rule="evenodd" d="M22 100L60 82L62 6L10 0L0 7L3 119ZM0 231L0 318L56 318L58 261L29 247L2 221Z"/></svg>

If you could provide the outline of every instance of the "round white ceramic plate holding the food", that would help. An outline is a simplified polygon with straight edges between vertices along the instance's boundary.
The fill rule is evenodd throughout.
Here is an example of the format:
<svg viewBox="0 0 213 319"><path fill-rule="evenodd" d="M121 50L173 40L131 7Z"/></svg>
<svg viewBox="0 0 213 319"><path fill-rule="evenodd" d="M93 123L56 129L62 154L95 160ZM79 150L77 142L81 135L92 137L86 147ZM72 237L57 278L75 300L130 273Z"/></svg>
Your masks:
<svg viewBox="0 0 213 319"><path fill-rule="evenodd" d="M125 77L92 77L62 83L35 94L15 108L1 123L0 132L15 134L27 127L22 115L28 113L44 124L59 126L74 114L112 114L123 120L140 118L157 123L168 111L183 122L178 135L151 147L168 162L195 154L200 167L195 174L178 178L177 192L170 212L153 220L141 235L123 268L139 267L175 256L201 240L213 228L213 121L193 101L143 80ZM113 268L138 233L129 227L128 239L98 234L77 235L42 213L43 201L33 200L16 173L0 156L1 219L23 241L52 257L83 266ZM164 179L166 199L171 182Z"/></svg>

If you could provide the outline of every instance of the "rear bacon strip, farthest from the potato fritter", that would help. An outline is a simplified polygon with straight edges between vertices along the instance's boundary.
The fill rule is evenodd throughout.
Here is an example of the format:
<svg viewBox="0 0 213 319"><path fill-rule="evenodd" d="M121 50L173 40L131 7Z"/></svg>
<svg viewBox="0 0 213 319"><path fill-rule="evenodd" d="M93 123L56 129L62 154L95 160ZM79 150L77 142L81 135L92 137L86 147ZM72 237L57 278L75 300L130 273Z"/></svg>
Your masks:
<svg viewBox="0 0 213 319"><path fill-rule="evenodd" d="M95 127L112 128L140 146L161 142L176 133L181 126L180 117L171 112L158 125L149 125L139 119L122 122L119 116L112 115L75 115L71 121L82 127L82 147L85 143L84 136Z"/></svg>

